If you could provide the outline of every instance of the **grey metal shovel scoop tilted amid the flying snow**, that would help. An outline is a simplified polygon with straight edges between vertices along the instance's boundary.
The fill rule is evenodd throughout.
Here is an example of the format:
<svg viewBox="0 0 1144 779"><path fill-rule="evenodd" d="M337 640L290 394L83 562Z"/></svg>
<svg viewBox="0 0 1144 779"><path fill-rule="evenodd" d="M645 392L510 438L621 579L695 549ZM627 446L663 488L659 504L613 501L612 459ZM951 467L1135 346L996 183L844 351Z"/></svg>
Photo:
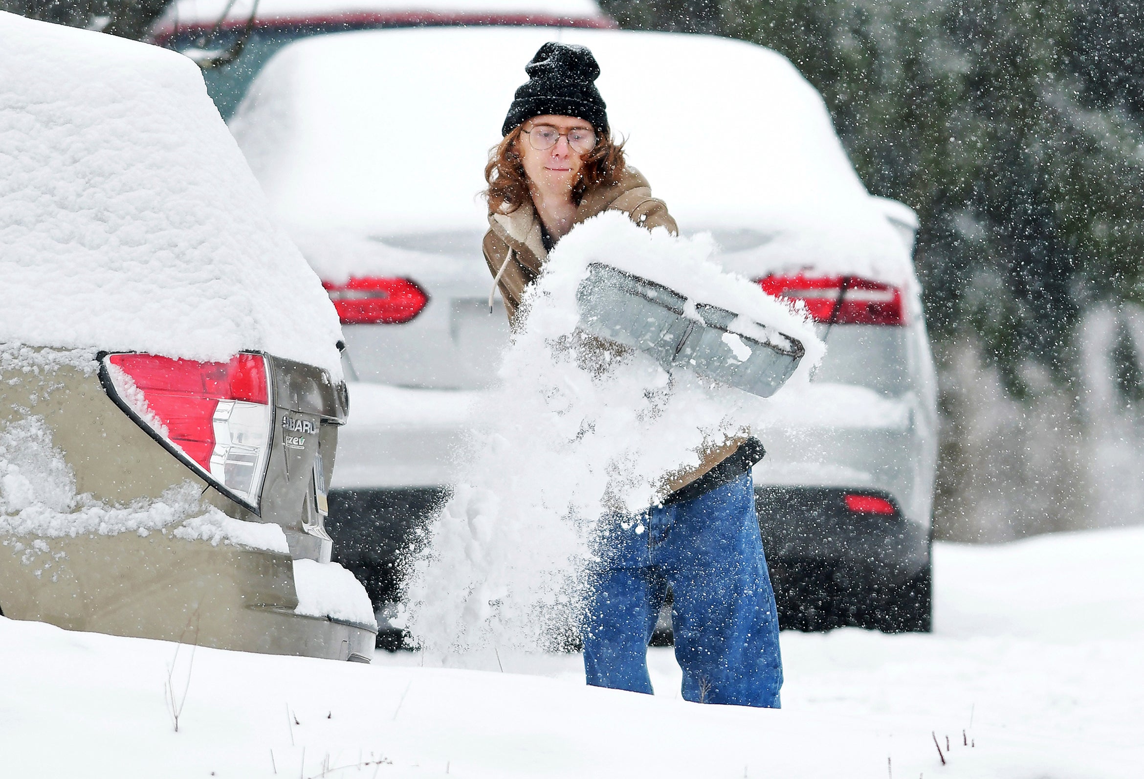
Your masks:
<svg viewBox="0 0 1144 779"><path fill-rule="evenodd" d="M738 315L726 309L697 303L699 319L688 317L688 299L674 289L598 262L588 265L575 299L586 332L646 352L667 371L689 368L764 398L805 355L801 341L773 328L765 343L732 332Z"/></svg>

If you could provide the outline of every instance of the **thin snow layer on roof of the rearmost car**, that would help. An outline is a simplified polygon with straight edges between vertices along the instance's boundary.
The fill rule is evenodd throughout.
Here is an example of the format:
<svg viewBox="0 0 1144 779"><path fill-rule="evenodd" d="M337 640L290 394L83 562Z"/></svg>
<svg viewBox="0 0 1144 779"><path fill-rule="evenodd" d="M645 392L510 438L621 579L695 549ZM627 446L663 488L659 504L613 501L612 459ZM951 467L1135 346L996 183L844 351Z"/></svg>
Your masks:
<svg viewBox="0 0 1144 779"><path fill-rule="evenodd" d="M214 24L220 18L245 22L253 9L254 0L177 0L167 7L156 29L162 34L174 32L176 23ZM609 21L595 0L259 0L256 18L305 19L359 14Z"/></svg>

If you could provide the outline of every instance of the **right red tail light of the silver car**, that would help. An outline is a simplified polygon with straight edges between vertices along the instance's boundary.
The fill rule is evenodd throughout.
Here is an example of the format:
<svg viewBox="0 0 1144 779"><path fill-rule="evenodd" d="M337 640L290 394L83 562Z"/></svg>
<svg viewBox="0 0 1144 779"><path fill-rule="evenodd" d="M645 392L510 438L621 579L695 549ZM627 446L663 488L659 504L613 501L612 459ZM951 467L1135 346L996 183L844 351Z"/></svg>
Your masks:
<svg viewBox="0 0 1144 779"><path fill-rule="evenodd" d="M901 289L853 276L768 276L758 285L769 295L801 300L815 321L836 325L904 325ZM845 294L843 292L845 285ZM834 313L839 296L842 305Z"/></svg>

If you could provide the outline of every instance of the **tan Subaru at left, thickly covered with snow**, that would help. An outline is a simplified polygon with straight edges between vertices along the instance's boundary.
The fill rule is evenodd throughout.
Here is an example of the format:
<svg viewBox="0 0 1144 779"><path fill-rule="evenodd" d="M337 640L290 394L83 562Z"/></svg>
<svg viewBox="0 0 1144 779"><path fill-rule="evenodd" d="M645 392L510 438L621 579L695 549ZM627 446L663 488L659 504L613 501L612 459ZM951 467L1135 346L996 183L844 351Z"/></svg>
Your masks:
<svg viewBox="0 0 1144 779"><path fill-rule="evenodd" d="M368 662L333 307L193 63L0 13L0 613Z"/></svg>

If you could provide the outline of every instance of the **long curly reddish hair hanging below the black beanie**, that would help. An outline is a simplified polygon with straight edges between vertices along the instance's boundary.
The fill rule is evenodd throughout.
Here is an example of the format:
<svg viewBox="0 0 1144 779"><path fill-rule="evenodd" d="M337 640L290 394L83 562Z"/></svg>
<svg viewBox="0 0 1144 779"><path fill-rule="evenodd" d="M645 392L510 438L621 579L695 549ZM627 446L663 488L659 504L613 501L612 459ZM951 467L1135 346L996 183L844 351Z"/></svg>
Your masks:
<svg viewBox="0 0 1144 779"><path fill-rule="evenodd" d="M484 191L488 200L490 214L511 214L525 202L532 200L529 192L529 178L524 173L521 152L521 132L524 125L506 135L503 140L488 150L488 165L485 166L485 181L488 189ZM615 143L611 133L596 142L596 148L583 154L583 167L580 181L572 188L572 201L580 205L585 193L597 186L611 186L623 176L627 165L623 158L623 142Z"/></svg>

